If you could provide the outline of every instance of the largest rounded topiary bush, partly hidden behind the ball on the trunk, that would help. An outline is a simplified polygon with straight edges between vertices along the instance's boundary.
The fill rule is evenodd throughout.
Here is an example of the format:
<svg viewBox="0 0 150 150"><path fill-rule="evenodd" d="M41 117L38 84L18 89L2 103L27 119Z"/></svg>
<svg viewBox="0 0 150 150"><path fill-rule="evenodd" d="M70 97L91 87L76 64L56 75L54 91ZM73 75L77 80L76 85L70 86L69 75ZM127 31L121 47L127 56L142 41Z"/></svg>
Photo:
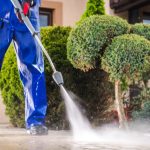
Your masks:
<svg viewBox="0 0 150 150"><path fill-rule="evenodd" d="M114 16L91 16L72 29L67 42L67 57L75 68L88 71L99 64L112 38L128 33L128 23Z"/></svg>

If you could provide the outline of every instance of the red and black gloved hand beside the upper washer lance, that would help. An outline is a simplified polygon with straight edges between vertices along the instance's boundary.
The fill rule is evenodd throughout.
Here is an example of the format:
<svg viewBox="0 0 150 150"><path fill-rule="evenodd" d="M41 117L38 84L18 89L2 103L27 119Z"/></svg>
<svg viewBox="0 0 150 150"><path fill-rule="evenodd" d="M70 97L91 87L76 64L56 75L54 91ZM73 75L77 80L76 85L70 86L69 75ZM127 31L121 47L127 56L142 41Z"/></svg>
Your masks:
<svg viewBox="0 0 150 150"><path fill-rule="evenodd" d="M23 0L22 9L25 16L29 16L29 10L35 5L34 0Z"/></svg>

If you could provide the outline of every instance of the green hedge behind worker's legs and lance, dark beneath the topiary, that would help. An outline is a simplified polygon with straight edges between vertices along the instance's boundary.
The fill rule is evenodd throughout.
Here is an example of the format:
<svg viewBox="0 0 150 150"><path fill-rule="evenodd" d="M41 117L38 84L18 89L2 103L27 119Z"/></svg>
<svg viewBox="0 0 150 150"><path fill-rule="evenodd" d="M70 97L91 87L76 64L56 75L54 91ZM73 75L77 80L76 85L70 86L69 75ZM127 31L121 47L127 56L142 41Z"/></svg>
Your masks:
<svg viewBox="0 0 150 150"><path fill-rule="evenodd" d="M99 123L104 118L104 111L112 102L112 85L108 82L107 74L101 70L83 73L72 67L67 60L66 43L69 27L47 27L41 30L41 39L48 50L55 66L62 72L65 87L76 93L83 100L78 102L87 110L84 113L90 120ZM45 58L45 56L44 56ZM52 69L45 58L45 73L48 97L46 123L52 129L68 127L64 101L60 96L58 86L52 79ZM12 47L6 53L0 74L0 88L6 105L7 114L14 126L24 126L24 98L20 83L16 57ZM96 106L95 106L96 104Z"/></svg>

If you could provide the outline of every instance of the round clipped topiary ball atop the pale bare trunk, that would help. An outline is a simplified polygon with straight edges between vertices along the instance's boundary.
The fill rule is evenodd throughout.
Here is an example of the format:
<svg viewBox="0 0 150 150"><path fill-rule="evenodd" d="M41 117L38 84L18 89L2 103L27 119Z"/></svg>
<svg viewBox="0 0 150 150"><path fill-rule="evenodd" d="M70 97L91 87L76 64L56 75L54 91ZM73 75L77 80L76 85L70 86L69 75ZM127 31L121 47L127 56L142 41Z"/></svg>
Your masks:
<svg viewBox="0 0 150 150"><path fill-rule="evenodd" d="M135 34L126 34L113 39L102 58L102 68L110 79L125 83L139 79L150 70L150 42Z"/></svg>

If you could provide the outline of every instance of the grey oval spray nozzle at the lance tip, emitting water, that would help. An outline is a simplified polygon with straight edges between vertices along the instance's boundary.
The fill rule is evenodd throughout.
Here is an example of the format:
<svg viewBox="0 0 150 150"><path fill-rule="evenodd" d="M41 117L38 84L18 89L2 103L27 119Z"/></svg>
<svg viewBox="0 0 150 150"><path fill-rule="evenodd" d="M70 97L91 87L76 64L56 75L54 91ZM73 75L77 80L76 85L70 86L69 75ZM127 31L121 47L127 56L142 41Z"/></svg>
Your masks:
<svg viewBox="0 0 150 150"><path fill-rule="evenodd" d="M59 86L64 84L64 80L63 80L63 76L62 76L61 72L55 71L53 73L53 79L56 82L56 84Z"/></svg>

